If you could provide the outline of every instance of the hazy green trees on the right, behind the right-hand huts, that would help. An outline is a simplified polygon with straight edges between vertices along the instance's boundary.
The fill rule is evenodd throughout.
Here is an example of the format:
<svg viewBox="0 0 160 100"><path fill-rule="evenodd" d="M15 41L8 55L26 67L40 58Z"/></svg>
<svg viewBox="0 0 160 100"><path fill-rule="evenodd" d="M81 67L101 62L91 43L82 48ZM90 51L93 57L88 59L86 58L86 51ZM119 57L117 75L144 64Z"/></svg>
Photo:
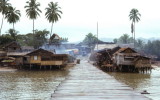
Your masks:
<svg viewBox="0 0 160 100"><path fill-rule="evenodd" d="M133 37L130 37L128 34L123 34L119 38L115 38L113 41L114 43L119 44L130 44L133 43ZM160 40L148 40L148 42L145 42L142 39L136 39L135 49L140 53L157 57L157 60L160 60Z"/></svg>

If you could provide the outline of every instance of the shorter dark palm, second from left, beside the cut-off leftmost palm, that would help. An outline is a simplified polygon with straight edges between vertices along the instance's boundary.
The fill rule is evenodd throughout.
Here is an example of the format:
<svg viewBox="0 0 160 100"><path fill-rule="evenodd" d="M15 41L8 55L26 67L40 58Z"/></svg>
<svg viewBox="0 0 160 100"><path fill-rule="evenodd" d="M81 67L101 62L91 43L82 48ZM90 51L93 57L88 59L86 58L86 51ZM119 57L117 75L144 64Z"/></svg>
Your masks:
<svg viewBox="0 0 160 100"><path fill-rule="evenodd" d="M5 18L9 23L13 23L13 30L14 30L14 24L19 21L21 14L19 10L16 10L16 8L9 7L8 12L6 13Z"/></svg>

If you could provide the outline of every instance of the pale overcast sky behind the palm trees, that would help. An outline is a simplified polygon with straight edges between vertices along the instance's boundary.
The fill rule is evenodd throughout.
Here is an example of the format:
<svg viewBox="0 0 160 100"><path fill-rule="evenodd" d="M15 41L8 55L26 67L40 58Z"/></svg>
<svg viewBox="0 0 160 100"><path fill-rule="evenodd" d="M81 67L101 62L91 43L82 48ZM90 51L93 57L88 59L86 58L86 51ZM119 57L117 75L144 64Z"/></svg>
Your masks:
<svg viewBox="0 0 160 100"><path fill-rule="evenodd" d="M32 20L26 16L24 6L27 0L9 0L13 7L21 11L20 21L15 24L19 34L32 32ZM45 18L45 8L49 2L58 2L63 14L53 25L53 32L66 37L70 42L78 42L88 33L98 38L119 38L127 33L131 36L129 12L139 10L141 20L136 23L136 38L160 38L160 1L159 0L37 0L42 13L35 20L35 29L51 30L51 23ZM0 14L0 19L2 18ZM1 20L0 20L1 23ZM12 28L4 21L2 34Z"/></svg>

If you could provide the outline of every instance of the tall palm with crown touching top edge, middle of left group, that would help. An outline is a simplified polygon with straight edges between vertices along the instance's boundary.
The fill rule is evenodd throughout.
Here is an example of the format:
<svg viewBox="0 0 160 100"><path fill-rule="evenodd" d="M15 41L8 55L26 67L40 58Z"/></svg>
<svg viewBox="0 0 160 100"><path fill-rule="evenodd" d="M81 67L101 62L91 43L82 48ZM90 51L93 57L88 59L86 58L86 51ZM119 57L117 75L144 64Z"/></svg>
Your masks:
<svg viewBox="0 0 160 100"><path fill-rule="evenodd" d="M24 8L26 8L26 15L27 17L29 17L30 19L33 20L33 34L34 34L34 20L40 16L39 13L41 13L42 11L38 8L40 6L39 2L36 2L36 0L29 0L26 2L27 6L25 6Z"/></svg>

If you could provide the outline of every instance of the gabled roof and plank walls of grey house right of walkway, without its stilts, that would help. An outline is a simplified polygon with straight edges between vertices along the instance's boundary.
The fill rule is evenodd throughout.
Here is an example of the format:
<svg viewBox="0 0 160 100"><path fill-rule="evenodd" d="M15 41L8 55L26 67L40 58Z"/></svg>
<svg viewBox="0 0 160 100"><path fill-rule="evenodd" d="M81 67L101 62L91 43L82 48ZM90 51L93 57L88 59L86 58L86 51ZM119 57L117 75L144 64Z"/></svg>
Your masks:
<svg viewBox="0 0 160 100"><path fill-rule="evenodd" d="M114 53L114 63L117 66L134 66L134 60L140 54L131 48L121 48Z"/></svg>

